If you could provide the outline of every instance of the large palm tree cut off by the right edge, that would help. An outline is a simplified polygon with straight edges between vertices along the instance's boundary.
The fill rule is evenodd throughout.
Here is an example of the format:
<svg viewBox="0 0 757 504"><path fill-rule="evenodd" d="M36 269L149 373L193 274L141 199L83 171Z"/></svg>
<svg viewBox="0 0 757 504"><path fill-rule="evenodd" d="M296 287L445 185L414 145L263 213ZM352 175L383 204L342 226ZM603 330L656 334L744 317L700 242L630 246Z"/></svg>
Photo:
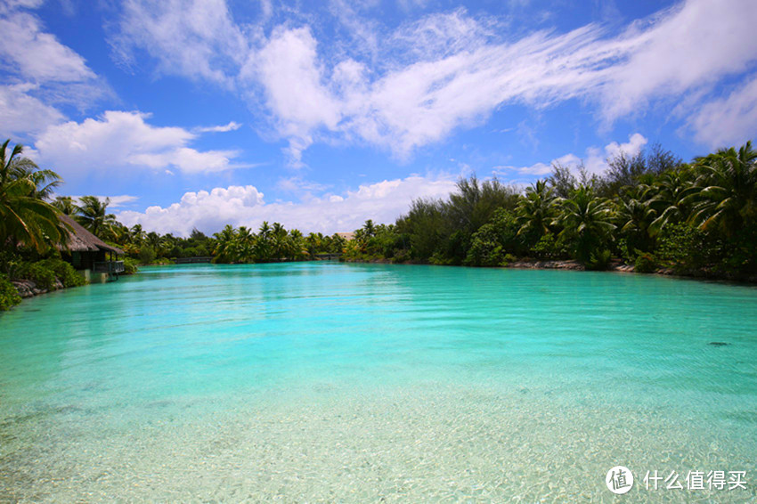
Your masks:
<svg viewBox="0 0 757 504"><path fill-rule="evenodd" d="M702 229L720 229L733 236L757 215L757 151L752 142L697 159L691 221Z"/></svg>

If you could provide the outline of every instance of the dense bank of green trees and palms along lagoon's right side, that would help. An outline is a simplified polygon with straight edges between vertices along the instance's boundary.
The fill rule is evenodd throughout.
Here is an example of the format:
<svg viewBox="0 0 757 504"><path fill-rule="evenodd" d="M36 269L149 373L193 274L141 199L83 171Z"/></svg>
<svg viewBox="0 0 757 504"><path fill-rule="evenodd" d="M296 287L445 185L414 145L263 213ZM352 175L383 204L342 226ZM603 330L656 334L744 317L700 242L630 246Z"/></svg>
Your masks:
<svg viewBox="0 0 757 504"><path fill-rule="evenodd" d="M608 159L603 175L552 174L520 194L496 179L460 180L448 199L413 201L396 224L367 222L357 260L498 266L516 257L613 261L639 272L750 278L757 273L757 152L751 142L692 163L654 146Z"/></svg>

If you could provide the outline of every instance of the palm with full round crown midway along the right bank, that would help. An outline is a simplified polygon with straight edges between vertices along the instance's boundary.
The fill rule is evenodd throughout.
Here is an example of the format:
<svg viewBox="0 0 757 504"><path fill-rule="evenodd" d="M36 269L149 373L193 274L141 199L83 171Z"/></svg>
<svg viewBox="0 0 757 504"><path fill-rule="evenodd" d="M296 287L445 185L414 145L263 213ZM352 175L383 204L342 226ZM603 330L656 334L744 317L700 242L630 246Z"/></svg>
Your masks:
<svg viewBox="0 0 757 504"><path fill-rule="evenodd" d="M594 196L587 185L579 185L570 198L558 199L560 213L556 224L563 227L562 236L573 241L576 257L586 262L615 229L609 201Z"/></svg>

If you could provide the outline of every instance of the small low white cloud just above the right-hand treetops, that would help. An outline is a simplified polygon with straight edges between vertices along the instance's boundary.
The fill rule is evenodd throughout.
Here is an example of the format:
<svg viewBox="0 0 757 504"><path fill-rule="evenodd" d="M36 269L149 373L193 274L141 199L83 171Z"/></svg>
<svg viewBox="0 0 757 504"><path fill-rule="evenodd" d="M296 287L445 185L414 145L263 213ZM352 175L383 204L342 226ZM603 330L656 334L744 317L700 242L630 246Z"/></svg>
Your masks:
<svg viewBox="0 0 757 504"><path fill-rule="evenodd" d="M569 168L574 175L578 175L581 168L585 169L590 175L602 175L608 168L608 159L613 159L621 153L630 157L636 156L644 149L647 142L648 140L643 134L634 133L629 136L628 142L610 142L601 149L590 147L586 150L583 158L571 152L552 159L549 163L539 162L530 167L495 167L494 172L505 177L522 175L525 179L531 180L551 174L552 166L559 165Z"/></svg>

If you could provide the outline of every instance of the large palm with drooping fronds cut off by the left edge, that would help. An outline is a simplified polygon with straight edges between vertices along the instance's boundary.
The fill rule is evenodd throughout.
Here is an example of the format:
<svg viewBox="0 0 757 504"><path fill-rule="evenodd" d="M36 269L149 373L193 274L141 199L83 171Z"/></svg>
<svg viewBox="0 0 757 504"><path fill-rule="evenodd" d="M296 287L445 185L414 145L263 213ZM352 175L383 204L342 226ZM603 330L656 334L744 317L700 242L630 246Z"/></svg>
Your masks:
<svg viewBox="0 0 757 504"><path fill-rule="evenodd" d="M15 247L23 243L43 252L68 237L55 207L42 199L61 179L49 170L39 170L42 175L36 175L37 165L20 158L21 144L8 156L9 142L0 146L0 244ZM48 183L50 180L53 182ZM40 183L45 185L40 187Z"/></svg>

